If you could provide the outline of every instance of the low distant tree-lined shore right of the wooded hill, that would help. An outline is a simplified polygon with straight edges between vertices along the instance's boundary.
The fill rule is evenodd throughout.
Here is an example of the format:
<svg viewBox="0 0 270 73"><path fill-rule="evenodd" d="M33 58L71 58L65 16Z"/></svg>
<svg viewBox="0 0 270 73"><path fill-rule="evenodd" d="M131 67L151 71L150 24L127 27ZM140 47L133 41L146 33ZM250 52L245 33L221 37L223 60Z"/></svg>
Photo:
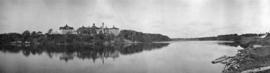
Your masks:
<svg viewBox="0 0 270 73"><path fill-rule="evenodd" d="M185 41L231 41L241 46L248 46L249 44L265 44L270 45L269 33L266 34L225 34L212 37L199 37L199 38L175 38L172 40L185 40Z"/></svg>

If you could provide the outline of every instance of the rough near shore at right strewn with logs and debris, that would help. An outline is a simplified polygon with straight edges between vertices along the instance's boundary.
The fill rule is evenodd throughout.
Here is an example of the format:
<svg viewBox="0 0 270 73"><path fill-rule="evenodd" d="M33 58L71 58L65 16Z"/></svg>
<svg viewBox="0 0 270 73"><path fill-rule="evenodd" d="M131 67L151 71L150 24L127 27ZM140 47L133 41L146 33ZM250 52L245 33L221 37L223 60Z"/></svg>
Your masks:
<svg viewBox="0 0 270 73"><path fill-rule="evenodd" d="M238 41L234 42L237 42L234 44L240 45L243 49L238 50L238 53L234 56L222 56L212 61L213 64L221 63L225 65L223 73L270 72L269 34L249 37L242 36Z"/></svg>

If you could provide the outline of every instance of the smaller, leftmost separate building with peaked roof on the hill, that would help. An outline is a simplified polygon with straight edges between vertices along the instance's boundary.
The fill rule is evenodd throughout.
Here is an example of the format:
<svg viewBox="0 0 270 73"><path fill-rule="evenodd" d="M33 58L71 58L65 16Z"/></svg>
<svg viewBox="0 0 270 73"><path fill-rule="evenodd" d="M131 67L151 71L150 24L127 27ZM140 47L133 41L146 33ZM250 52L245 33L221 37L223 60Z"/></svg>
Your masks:
<svg viewBox="0 0 270 73"><path fill-rule="evenodd" d="M60 31L62 31L62 34L76 34L73 27L70 27L66 24L64 27L59 28Z"/></svg>

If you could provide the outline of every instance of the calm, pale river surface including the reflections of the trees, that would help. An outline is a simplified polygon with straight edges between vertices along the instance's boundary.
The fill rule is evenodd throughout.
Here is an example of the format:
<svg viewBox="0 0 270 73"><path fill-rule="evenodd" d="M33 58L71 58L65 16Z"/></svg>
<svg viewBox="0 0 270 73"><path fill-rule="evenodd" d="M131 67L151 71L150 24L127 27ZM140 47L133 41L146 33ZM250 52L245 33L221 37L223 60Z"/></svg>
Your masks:
<svg viewBox="0 0 270 73"><path fill-rule="evenodd" d="M127 45L124 47L129 48L80 52L2 48L0 71L1 73L221 73L224 66L212 64L211 61L223 55L235 55L241 48L217 43L180 41L161 46Z"/></svg>

